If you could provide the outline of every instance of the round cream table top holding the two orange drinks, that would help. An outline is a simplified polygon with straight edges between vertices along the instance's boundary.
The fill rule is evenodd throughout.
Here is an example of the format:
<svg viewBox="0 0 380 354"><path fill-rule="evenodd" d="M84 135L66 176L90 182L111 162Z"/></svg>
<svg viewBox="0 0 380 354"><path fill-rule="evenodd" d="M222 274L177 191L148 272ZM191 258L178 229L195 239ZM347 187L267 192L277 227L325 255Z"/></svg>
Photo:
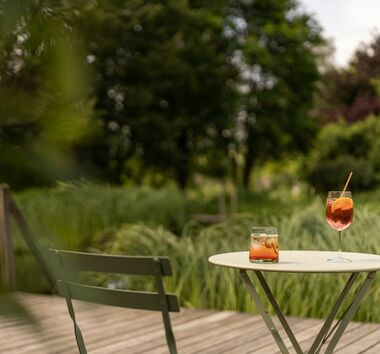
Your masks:
<svg viewBox="0 0 380 354"><path fill-rule="evenodd" d="M350 263L331 263L337 252L281 251L278 263L251 263L249 252L231 252L211 256L208 261L222 267L286 273L357 273L380 270L380 255L344 252Z"/></svg>

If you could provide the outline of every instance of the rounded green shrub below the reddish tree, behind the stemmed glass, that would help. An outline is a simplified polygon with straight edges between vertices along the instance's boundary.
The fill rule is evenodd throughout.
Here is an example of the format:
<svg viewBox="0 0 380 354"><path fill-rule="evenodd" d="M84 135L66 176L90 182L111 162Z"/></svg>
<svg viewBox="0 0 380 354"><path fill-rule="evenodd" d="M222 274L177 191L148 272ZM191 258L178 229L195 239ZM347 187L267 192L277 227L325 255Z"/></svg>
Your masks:
<svg viewBox="0 0 380 354"><path fill-rule="evenodd" d="M338 121L318 134L305 177L319 191L342 188L354 171L353 188L370 189L380 181L380 116L348 124Z"/></svg>

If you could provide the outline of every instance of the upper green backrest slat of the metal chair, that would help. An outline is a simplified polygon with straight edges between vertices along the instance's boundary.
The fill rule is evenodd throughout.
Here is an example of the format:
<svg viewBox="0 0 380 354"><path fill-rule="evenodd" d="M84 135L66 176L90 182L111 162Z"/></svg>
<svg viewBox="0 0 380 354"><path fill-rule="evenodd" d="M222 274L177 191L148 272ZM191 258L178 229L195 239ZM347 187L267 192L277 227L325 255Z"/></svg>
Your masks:
<svg viewBox="0 0 380 354"><path fill-rule="evenodd" d="M51 250L51 252L55 252ZM102 273L120 273L130 275L155 275L152 257L115 256L106 254L91 254L82 252L59 251L65 268L77 271ZM56 256L55 256L56 257ZM172 275L169 258L156 257L160 261L161 273Z"/></svg>

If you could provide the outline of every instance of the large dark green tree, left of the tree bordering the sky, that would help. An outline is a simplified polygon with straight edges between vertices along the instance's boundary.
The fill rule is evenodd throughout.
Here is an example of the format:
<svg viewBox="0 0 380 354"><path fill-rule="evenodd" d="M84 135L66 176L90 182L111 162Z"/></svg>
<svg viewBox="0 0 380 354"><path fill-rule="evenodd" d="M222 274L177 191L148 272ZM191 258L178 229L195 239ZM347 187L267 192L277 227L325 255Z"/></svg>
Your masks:
<svg viewBox="0 0 380 354"><path fill-rule="evenodd" d="M223 131L233 125L238 70L223 10L192 5L114 0L84 6L75 19L89 44L103 122L102 136L81 153L114 182L153 170L185 187L211 163L213 173L226 174Z"/></svg>

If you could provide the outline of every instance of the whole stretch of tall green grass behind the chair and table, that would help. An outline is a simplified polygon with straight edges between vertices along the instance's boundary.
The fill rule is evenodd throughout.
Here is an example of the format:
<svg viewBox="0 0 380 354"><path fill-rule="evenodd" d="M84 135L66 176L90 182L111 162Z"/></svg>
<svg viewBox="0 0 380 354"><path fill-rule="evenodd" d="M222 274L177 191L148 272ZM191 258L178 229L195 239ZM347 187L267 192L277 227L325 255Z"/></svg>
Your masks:
<svg viewBox="0 0 380 354"><path fill-rule="evenodd" d="M354 222L343 234L345 250L380 254L378 196L378 191L354 195ZM61 184L16 195L37 240L46 247L169 256L175 273L168 288L178 293L182 305L254 311L237 272L209 264L209 256L248 250L252 225L277 226L280 249L336 250L338 237L325 222L323 197L276 201L249 194L241 199L244 213L205 226L190 221L191 215L214 211L217 198L170 186L153 190ZM16 236L18 289L49 291L33 257ZM285 313L307 317L325 317L347 279L347 275L267 277ZM131 284L153 286L153 282L128 279ZM380 322L379 300L380 285L375 282L356 320Z"/></svg>

